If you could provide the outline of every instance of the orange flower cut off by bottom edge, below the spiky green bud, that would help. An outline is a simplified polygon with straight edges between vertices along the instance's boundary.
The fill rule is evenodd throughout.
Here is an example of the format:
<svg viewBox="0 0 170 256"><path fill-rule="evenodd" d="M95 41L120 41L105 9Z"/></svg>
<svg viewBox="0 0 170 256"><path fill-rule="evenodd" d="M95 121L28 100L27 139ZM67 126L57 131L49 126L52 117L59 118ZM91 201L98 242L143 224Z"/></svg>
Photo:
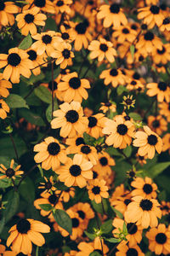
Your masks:
<svg viewBox="0 0 170 256"><path fill-rule="evenodd" d="M78 249L80 252L77 253L77 256L89 256L91 253L103 253L104 256L106 256L109 251L109 248L105 245L103 239L99 239L99 236L94 239L94 241L91 242L85 242L81 241L78 245Z"/></svg>

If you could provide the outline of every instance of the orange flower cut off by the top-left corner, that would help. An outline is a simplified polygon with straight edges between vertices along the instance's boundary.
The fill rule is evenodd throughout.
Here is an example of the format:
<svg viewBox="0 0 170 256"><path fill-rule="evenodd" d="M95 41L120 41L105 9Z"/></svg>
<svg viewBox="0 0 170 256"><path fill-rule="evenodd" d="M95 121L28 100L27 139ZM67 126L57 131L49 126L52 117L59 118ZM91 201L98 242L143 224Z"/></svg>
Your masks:
<svg viewBox="0 0 170 256"><path fill-rule="evenodd" d="M13 2L0 3L0 25L3 26L13 26L14 25L14 14L19 12L19 7Z"/></svg>

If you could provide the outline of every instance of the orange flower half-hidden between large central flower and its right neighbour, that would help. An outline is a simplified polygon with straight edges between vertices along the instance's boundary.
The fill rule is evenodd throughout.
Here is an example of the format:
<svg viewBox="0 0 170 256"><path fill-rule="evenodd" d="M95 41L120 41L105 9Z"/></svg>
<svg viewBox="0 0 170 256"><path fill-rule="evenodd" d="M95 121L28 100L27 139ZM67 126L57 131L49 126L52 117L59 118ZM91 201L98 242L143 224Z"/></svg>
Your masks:
<svg viewBox="0 0 170 256"><path fill-rule="evenodd" d="M105 115L103 113L96 113L88 117L87 133L96 139L102 137L104 134L102 128L105 126Z"/></svg>

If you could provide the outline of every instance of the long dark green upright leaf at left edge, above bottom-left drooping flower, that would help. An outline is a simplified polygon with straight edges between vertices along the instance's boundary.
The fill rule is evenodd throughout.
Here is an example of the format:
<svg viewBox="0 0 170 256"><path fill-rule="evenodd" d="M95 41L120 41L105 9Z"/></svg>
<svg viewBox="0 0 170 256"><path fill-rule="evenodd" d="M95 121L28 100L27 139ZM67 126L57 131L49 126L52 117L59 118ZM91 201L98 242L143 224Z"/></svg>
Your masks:
<svg viewBox="0 0 170 256"><path fill-rule="evenodd" d="M3 217L5 218L5 223L7 223L18 210L20 203L19 193L15 192L14 189L11 189L6 195L4 195L3 201L8 201L5 205L5 209L3 210Z"/></svg>

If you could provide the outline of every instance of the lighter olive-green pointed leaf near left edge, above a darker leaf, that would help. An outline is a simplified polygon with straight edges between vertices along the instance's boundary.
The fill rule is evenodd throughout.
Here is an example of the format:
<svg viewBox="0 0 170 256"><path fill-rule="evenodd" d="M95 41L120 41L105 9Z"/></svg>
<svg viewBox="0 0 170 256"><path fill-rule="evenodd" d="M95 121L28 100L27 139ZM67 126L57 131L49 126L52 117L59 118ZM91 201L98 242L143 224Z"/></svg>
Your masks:
<svg viewBox="0 0 170 256"><path fill-rule="evenodd" d="M26 101L19 95L9 94L6 99L9 108L29 108Z"/></svg>

